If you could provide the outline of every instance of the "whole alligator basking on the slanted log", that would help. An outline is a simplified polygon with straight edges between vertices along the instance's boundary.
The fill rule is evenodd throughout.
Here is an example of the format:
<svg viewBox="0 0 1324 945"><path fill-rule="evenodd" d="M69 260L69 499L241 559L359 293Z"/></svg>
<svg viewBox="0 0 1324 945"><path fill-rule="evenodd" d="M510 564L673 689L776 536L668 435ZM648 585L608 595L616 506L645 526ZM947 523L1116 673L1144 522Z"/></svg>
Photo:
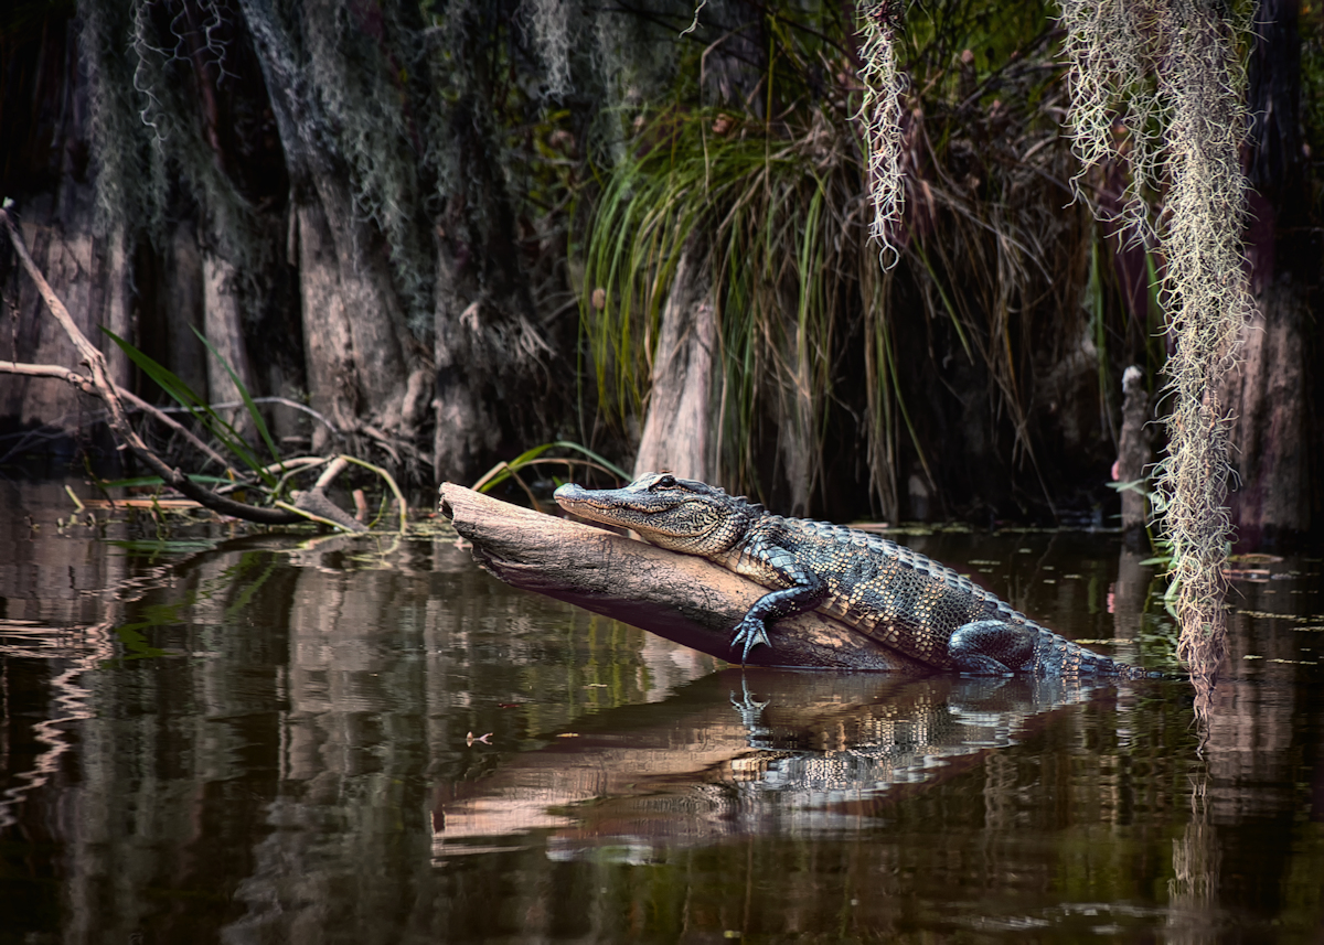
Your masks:
<svg viewBox="0 0 1324 945"><path fill-rule="evenodd" d="M723 565L769 588L735 626L741 660L772 646L768 623L818 609L935 670L972 675L1149 675L1072 643L968 577L888 539L772 515L694 479L647 472L624 488L556 490L565 511L630 528L661 548Z"/></svg>

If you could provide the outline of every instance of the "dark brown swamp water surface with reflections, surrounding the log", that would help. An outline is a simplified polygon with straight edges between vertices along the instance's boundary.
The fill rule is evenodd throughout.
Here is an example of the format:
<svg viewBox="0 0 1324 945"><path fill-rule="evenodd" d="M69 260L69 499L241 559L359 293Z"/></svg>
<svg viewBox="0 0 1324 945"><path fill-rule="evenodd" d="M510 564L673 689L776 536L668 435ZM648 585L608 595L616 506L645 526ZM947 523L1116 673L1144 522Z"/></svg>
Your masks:
<svg viewBox="0 0 1324 945"><path fill-rule="evenodd" d="M741 674L442 536L70 514L0 487L0 942L1324 941L1317 561L1237 582L1202 733L1180 682ZM1168 658L1108 536L908 544Z"/></svg>

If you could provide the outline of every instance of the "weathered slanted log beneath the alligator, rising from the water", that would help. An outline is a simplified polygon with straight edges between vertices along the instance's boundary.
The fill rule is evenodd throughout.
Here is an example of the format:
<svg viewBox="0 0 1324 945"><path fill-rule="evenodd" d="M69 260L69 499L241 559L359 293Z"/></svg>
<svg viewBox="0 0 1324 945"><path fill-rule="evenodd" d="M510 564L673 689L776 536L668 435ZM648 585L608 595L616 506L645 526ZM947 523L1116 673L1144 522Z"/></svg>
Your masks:
<svg viewBox="0 0 1324 945"><path fill-rule="evenodd" d="M441 512L473 543L478 562L502 581L719 659L733 658L731 629L767 593L703 559L540 515L453 483L441 487ZM751 651L751 666L932 672L820 613L780 619L771 637L771 647Z"/></svg>

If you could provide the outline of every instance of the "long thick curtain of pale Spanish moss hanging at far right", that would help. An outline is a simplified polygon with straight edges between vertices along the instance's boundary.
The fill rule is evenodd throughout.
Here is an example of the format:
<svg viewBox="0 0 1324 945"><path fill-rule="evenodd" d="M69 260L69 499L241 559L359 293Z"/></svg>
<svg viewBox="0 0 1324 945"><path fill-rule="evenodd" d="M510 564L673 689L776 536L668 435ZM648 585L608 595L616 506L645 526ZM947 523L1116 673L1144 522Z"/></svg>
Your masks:
<svg viewBox="0 0 1324 945"><path fill-rule="evenodd" d="M1170 544L1182 654L1197 676L1211 679L1230 544L1231 421L1218 390L1254 306L1242 245L1239 147L1247 120L1237 37L1245 24L1229 22L1211 0L1164 0L1143 13L1115 0L1071 0L1063 9L1080 155L1131 160L1127 222L1157 233L1160 302L1173 340L1157 506ZM1120 132L1116 115L1124 120ZM1158 195L1157 205L1144 200L1147 192ZM1141 218L1158 222L1140 228Z"/></svg>

